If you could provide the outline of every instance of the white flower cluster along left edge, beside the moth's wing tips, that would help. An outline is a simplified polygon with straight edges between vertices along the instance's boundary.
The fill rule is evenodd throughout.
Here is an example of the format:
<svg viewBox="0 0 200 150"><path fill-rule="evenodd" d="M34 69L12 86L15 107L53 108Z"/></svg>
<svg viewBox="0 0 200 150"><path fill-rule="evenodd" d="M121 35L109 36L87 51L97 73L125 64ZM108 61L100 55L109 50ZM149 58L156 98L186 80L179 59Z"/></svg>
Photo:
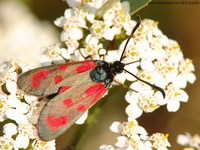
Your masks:
<svg viewBox="0 0 200 150"><path fill-rule="evenodd" d="M35 127L39 112L44 106L36 97L26 95L17 88L17 75L27 70L25 65L16 61L1 64L0 73L0 122L3 125L3 136L0 137L0 149L55 149L55 140L39 140ZM26 69L25 69L26 68Z"/></svg>

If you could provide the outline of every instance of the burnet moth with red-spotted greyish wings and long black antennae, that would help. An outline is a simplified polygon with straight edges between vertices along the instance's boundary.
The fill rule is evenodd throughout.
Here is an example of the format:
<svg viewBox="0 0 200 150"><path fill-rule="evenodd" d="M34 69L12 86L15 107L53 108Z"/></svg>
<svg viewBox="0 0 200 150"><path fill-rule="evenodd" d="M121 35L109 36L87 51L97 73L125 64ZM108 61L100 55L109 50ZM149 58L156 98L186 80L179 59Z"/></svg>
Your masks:
<svg viewBox="0 0 200 150"><path fill-rule="evenodd" d="M55 139L64 133L85 111L92 107L108 91L116 74L123 71L133 75L156 90L163 97L165 92L124 67L122 58L129 40L140 26L138 22L128 38L119 61L86 60L36 68L19 76L17 84L28 94L47 97L38 120L38 135L44 141Z"/></svg>

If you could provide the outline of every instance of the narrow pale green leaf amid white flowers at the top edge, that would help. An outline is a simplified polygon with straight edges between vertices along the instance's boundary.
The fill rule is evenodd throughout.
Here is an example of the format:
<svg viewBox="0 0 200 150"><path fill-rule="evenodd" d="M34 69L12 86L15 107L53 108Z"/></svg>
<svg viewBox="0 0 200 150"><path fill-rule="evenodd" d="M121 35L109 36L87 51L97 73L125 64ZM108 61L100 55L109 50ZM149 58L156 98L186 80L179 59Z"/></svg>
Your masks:
<svg viewBox="0 0 200 150"><path fill-rule="evenodd" d="M98 11L96 12L96 18L101 19L103 17L103 15L106 13L106 11L109 10L110 8L112 8L119 1L120 0L108 0L108 1L106 1L103 4L103 6L101 6L101 8L99 8Z"/></svg>

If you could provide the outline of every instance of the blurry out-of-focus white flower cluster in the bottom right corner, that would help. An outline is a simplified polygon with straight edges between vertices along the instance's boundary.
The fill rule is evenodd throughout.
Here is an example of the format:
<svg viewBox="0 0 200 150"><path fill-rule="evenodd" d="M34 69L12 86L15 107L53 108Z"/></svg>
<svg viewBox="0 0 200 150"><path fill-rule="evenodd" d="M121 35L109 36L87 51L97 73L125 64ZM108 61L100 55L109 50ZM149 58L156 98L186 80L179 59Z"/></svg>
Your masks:
<svg viewBox="0 0 200 150"><path fill-rule="evenodd" d="M182 145L183 150L199 150L200 149L200 135L191 135L190 133L180 134L177 137L177 143Z"/></svg>

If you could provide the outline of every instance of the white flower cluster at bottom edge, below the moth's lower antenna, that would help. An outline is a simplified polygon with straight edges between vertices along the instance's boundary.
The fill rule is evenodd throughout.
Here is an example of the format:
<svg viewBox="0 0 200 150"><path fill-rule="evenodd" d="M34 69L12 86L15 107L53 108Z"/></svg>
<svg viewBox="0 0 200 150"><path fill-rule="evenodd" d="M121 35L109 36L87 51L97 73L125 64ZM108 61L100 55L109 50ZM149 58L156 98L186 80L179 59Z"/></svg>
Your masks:
<svg viewBox="0 0 200 150"><path fill-rule="evenodd" d="M112 145L101 145L99 150L167 150L170 147L168 134L155 133L148 136L146 130L139 126L136 120L114 122L110 127L112 132L120 133L116 148Z"/></svg>

